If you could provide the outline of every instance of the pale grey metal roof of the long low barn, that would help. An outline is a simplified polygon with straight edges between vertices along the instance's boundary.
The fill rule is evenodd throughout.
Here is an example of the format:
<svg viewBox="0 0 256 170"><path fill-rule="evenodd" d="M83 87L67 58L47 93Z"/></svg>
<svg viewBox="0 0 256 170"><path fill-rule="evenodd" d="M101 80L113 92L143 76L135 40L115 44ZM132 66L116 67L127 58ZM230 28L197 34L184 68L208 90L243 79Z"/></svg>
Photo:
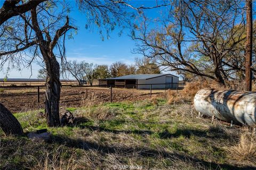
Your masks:
<svg viewBox="0 0 256 170"><path fill-rule="evenodd" d="M172 74L130 74L130 75L124 75L124 76L121 76L121 77L117 77L117 78L110 78L110 79L107 79L107 80L128 80L128 79L135 79L135 80L139 80L139 79L152 79L152 78L157 78L157 77L162 77L164 75L171 75L171 76L174 76L174 77L177 77L175 75L172 75Z"/></svg>

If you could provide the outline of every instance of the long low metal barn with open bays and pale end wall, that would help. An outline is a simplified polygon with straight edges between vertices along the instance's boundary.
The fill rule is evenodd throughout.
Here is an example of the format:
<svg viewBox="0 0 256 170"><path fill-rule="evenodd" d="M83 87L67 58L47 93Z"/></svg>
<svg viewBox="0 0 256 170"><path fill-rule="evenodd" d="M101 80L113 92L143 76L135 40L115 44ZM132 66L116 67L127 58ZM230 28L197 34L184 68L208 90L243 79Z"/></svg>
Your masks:
<svg viewBox="0 0 256 170"><path fill-rule="evenodd" d="M167 83L167 84L166 84ZM179 83L179 77L172 74L131 74L117 78L99 79L99 86L124 88L174 89Z"/></svg>

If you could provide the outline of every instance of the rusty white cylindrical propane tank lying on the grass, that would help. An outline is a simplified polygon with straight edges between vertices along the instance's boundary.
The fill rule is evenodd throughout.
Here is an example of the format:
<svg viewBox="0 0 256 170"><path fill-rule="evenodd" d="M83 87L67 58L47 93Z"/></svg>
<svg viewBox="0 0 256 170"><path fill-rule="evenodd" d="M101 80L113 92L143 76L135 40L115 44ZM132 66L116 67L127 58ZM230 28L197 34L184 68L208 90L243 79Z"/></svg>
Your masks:
<svg viewBox="0 0 256 170"><path fill-rule="evenodd" d="M207 116L255 126L256 92L201 89L195 95L194 106Z"/></svg>

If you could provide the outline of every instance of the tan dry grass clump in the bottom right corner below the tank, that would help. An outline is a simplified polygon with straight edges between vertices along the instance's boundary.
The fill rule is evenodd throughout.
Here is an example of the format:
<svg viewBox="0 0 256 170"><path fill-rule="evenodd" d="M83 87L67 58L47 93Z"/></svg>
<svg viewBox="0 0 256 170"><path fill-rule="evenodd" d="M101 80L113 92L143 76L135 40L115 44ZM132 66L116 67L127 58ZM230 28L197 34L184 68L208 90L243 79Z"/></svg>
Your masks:
<svg viewBox="0 0 256 170"><path fill-rule="evenodd" d="M247 165L256 165L256 135L248 128L241 134L239 142L235 146L226 147L229 158Z"/></svg>

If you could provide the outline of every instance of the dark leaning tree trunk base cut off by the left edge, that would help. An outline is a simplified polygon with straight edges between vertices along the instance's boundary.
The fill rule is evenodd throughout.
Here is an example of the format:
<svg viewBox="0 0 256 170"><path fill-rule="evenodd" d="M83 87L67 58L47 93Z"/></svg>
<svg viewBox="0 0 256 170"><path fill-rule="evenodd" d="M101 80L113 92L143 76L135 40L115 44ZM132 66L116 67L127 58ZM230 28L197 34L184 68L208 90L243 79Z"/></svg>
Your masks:
<svg viewBox="0 0 256 170"><path fill-rule="evenodd" d="M0 103L0 128L4 131L5 135L18 134L22 135L22 127L16 117Z"/></svg>

